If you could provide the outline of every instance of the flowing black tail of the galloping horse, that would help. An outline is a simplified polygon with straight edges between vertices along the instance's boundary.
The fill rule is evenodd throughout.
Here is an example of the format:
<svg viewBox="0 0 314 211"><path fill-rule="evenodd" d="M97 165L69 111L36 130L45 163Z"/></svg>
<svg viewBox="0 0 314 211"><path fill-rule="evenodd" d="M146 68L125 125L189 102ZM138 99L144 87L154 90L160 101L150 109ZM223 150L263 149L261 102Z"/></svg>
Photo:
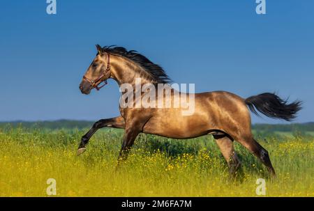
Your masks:
<svg viewBox="0 0 314 211"><path fill-rule="evenodd" d="M291 121L297 116L297 112L301 110L301 101L294 101L291 104L287 100L282 100L275 94L262 93L248 97L246 99L248 108L257 116L257 111L270 118L282 118Z"/></svg>

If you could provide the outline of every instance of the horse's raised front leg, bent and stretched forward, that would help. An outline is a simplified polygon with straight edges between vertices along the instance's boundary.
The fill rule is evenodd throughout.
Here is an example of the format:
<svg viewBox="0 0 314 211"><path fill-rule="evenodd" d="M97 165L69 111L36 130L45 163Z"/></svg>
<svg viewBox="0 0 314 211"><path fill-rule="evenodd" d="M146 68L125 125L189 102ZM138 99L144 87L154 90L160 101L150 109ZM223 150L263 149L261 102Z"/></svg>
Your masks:
<svg viewBox="0 0 314 211"><path fill-rule="evenodd" d="M96 123L94 123L93 127L91 127L91 130L89 130L87 134L84 134L84 136L82 136L80 146L77 150L77 155L81 155L85 152L87 143L89 143L89 139L91 139L91 136L93 136L98 129L103 127L124 128L124 118L122 118L121 116L116 118L106 118L98 120Z"/></svg>

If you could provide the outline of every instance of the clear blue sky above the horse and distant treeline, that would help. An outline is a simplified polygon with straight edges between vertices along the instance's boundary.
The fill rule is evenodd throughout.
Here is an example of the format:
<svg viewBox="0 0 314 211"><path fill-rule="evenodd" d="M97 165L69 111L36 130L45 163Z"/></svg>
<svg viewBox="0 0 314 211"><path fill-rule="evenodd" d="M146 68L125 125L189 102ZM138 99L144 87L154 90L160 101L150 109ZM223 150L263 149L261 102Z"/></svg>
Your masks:
<svg viewBox="0 0 314 211"><path fill-rule="evenodd" d="M277 92L314 120L314 1L3 1L0 121L98 120L119 115L119 87L82 95L95 44L135 49L197 92ZM284 123L253 117L254 123Z"/></svg>

